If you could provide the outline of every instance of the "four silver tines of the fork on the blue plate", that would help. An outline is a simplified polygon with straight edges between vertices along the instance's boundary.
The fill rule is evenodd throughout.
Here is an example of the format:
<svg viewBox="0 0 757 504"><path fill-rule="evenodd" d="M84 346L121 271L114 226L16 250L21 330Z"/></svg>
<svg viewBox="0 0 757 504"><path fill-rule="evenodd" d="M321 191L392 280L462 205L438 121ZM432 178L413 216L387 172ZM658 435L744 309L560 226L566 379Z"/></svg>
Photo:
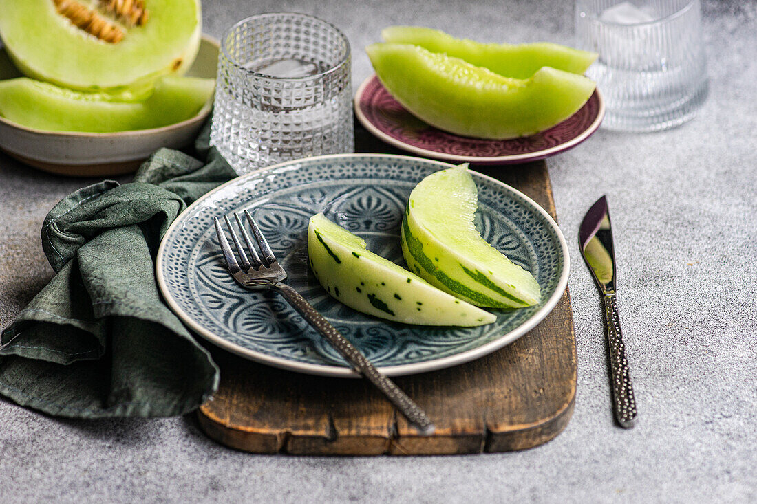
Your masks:
<svg viewBox="0 0 757 504"><path fill-rule="evenodd" d="M266 241L266 238L263 236L263 232L260 231L260 228L257 226L257 222L255 222L255 219L252 218L247 210L245 210L245 217L250 223L252 234L255 235L255 241L257 241L257 244L260 247L260 254L263 255L263 260L260 259L260 254L257 254L257 250L253 244L253 241L250 238L247 230L245 229L244 223L239 217L239 214L234 213L234 219L236 220L239 231L241 232L242 239L245 240L245 244L247 245L247 249L249 250L251 256L251 260L248 258L247 252L245 252L245 246L242 244L238 235L234 231L234 226L232 226L232 222L229 219L229 216L223 216L223 219L226 221L226 226L229 228L229 233L231 233L232 235L234 246L239 253L241 266L237 262L236 257L232 252L229 241L226 239L226 233L223 232L220 220L218 219L218 217L213 217L213 222L216 225L218 241L221 244L223 257L224 259L226 259L226 265L229 266L229 271L232 272L232 275L240 271L246 272L249 269L258 269L260 268L260 266L269 267L273 262L276 261L276 257L273 255L273 251L271 250L271 247L269 247L268 241Z"/></svg>

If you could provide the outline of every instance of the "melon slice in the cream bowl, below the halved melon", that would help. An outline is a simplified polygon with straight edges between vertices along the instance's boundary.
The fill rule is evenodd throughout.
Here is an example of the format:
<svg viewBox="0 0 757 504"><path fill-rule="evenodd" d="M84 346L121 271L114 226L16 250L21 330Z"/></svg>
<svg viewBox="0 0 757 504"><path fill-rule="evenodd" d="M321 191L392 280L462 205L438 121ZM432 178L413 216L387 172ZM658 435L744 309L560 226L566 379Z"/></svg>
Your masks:
<svg viewBox="0 0 757 504"><path fill-rule="evenodd" d="M119 132L189 119L213 95L214 79L167 76L144 99L83 93L26 77L0 81L0 116L33 129ZM123 101L128 98L127 101Z"/></svg>

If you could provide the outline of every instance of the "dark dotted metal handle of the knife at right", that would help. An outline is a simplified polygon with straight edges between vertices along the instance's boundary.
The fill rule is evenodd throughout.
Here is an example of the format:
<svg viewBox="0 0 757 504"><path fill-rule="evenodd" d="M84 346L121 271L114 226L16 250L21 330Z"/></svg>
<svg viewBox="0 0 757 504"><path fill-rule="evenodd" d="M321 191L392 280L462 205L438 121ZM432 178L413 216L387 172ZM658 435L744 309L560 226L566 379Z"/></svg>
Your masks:
<svg viewBox="0 0 757 504"><path fill-rule="evenodd" d="M603 294L602 306L605 313L605 331L612 378L612 406L615 419L623 428L631 428L636 421L636 400L631 376L628 375L628 359L625 358L623 333L620 330L618 302L615 294Z"/></svg>

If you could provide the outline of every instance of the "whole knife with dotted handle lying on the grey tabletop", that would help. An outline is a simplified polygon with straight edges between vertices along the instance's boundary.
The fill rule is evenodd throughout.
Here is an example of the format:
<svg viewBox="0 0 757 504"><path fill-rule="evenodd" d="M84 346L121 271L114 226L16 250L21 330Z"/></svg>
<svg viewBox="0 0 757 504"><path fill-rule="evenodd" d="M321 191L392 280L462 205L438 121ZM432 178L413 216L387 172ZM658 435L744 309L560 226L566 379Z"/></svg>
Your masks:
<svg viewBox="0 0 757 504"><path fill-rule="evenodd" d="M584 216L578 230L578 244L602 294L615 419L621 427L631 428L637 416L636 400L628 374L628 359L625 358L618 303L615 300L615 249L612 246L612 226L606 196L597 200Z"/></svg>

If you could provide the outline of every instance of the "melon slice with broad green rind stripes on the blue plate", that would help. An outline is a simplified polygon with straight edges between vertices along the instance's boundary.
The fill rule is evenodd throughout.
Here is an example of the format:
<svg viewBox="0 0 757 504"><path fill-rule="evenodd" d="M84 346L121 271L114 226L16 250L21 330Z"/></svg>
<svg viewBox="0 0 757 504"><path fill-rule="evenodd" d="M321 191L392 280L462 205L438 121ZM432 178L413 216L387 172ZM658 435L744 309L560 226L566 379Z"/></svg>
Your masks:
<svg viewBox="0 0 757 504"><path fill-rule="evenodd" d="M520 308L539 303L540 287L533 275L475 229L477 208L475 182L466 165L419 182L402 221L402 254L408 268L476 306Z"/></svg>

